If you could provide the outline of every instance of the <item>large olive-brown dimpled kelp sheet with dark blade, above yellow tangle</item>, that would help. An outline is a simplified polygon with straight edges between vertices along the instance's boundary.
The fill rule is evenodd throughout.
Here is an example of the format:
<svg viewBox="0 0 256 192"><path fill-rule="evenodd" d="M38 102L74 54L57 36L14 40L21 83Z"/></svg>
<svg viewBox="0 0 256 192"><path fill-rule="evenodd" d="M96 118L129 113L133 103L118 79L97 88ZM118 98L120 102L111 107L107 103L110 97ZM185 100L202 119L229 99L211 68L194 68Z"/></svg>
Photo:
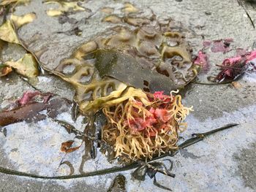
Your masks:
<svg viewBox="0 0 256 192"><path fill-rule="evenodd" d="M116 25L80 45L52 71L75 85L75 101L83 113L94 99L121 93L127 85L170 93L187 85L200 69L192 64L184 36L172 31L171 20L161 23L154 15L131 15L129 9L137 12L129 4L122 9L120 21L127 26Z"/></svg>

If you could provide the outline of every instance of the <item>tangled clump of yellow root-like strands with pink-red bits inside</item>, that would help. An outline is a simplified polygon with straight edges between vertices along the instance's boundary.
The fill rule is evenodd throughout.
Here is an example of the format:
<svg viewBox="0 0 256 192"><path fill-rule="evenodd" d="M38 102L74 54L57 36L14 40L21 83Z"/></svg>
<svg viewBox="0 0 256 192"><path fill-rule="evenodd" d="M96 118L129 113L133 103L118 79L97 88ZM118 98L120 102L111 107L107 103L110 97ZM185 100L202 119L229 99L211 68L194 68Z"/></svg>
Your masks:
<svg viewBox="0 0 256 192"><path fill-rule="evenodd" d="M181 121L192 110L192 107L181 104L181 96L170 93L163 100L140 89L129 88L123 97L119 102L103 107L108 125L102 130L102 139L115 148L116 157L128 155L131 159L151 159L153 155L177 148L178 131L187 128L187 124ZM161 115L156 118L152 111L156 114L163 111L162 118L167 118L162 121ZM136 131L136 128L142 130Z"/></svg>

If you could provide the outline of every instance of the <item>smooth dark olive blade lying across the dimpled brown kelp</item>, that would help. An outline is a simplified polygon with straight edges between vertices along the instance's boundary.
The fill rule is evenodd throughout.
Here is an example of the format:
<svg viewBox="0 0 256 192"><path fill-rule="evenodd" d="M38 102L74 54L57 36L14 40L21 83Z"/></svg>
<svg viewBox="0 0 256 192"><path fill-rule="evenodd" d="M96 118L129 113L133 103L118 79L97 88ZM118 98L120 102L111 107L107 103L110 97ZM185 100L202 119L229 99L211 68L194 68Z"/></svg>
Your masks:
<svg viewBox="0 0 256 192"><path fill-rule="evenodd" d="M156 71L143 69L131 55L117 50L95 50L84 58L95 60L94 66L102 78L113 77L129 86L150 92L162 90L168 93L178 88L170 78Z"/></svg>

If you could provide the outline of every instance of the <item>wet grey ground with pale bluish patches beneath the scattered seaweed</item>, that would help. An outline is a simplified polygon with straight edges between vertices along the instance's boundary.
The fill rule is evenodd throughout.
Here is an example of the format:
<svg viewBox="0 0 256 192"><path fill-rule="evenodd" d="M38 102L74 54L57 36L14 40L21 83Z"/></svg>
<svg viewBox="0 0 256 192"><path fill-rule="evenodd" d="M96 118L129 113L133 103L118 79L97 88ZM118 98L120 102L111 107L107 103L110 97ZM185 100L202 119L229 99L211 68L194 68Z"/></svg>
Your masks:
<svg viewBox="0 0 256 192"><path fill-rule="evenodd" d="M159 20L168 18L175 20L176 29L183 28L182 34L195 54L202 49L204 39L233 38L230 52L211 53L209 58L211 66L221 64L224 58L235 55L235 49L238 47L250 49L256 39L255 29L248 15L246 16L244 9L236 0L130 1L135 8L125 5L125 2L127 1L81 1L84 10L50 17L47 11L53 7L59 9L59 4L31 1L27 6L20 5L15 9L15 15L29 12L35 12L37 15L37 19L19 29L18 35L29 50L39 57L39 61L49 69L56 69L65 58L72 58L72 53L80 45L108 31L108 28L114 27L116 23L125 27L127 26L125 22L129 21L136 26L135 20L124 19L126 12L144 10L145 7L149 7ZM150 9L145 9L144 18L151 15ZM209 12L211 14L208 14ZM247 12L252 18L256 18L254 9L248 8ZM108 15L118 15L118 18L106 18ZM102 22L104 18L113 22ZM141 22L147 20L140 20ZM108 37L108 34L105 35ZM13 58L17 61L24 53L19 45L5 46L2 59L7 61ZM212 67L209 74L216 73L217 68ZM205 81L206 76L200 74L200 81ZM189 127L181 135L182 137L186 139L192 133L209 131L227 123L240 125L214 134L171 158L174 161L173 172L176 178L157 174L157 181L160 184L173 191L256 190L254 182L256 76L245 74L238 82L241 88L234 88L231 84L188 85L187 90L184 91L184 104L194 106L194 112L187 118ZM34 90L16 74L1 78L0 83L1 109L18 99L23 92ZM39 90L57 93L69 100L72 100L75 93L72 86L50 74L39 77L33 85ZM82 117L74 122L71 115L64 112L57 118L67 120L79 130L83 130ZM67 155L61 153L61 142L74 138L74 134L69 134L62 126L50 119L37 123L12 124L6 127L6 132L0 132L0 164L15 170L48 176L69 174L71 170L69 163L72 164L76 174L113 166L99 151L96 159L83 161L84 146ZM80 140L74 140L75 145L80 145ZM65 161L69 163L60 165L60 162ZM153 180L148 177L145 181L139 182L132 180L129 171L121 174L126 177L127 191L165 191L153 185ZM117 175L118 173L56 181L0 174L0 190L108 191Z"/></svg>

